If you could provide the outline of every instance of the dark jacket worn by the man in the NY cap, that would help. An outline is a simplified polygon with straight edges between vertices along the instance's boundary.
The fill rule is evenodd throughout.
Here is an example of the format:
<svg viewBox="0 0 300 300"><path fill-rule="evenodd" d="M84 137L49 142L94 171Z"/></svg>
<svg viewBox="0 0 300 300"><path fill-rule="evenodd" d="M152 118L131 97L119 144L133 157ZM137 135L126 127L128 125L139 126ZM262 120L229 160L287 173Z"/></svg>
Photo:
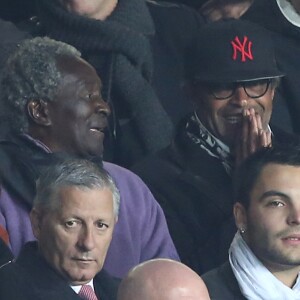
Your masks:
<svg viewBox="0 0 300 300"><path fill-rule="evenodd" d="M183 120L169 147L132 170L162 206L182 262L203 274L227 260L236 232L232 178L219 159L192 142L185 124ZM273 143L296 138L279 129L272 130Z"/></svg>

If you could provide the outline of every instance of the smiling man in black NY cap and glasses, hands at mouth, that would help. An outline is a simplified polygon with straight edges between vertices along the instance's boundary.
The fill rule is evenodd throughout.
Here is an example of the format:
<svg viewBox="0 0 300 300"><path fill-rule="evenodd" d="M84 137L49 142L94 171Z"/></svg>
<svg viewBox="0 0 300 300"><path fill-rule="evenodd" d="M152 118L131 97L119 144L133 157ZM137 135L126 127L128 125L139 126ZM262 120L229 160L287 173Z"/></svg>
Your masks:
<svg viewBox="0 0 300 300"><path fill-rule="evenodd" d="M264 29L240 20L211 23L188 59L186 89L195 110L173 143L134 171L163 207L181 260L201 274L227 258L235 167L294 137L269 126L283 74Z"/></svg>

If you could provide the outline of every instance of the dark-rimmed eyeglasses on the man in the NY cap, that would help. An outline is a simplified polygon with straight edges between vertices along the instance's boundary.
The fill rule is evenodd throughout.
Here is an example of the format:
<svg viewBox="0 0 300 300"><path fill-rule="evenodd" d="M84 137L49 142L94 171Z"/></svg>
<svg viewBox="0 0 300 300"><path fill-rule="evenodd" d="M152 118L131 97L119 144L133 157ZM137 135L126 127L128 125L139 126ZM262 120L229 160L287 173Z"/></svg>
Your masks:
<svg viewBox="0 0 300 300"><path fill-rule="evenodd" d="M243 87L248 97L257 99L266 94L270 83L270 79L263 79L230 84L205 84L205 87L217 100L225 100L232 97L239 87Z"/></svg>

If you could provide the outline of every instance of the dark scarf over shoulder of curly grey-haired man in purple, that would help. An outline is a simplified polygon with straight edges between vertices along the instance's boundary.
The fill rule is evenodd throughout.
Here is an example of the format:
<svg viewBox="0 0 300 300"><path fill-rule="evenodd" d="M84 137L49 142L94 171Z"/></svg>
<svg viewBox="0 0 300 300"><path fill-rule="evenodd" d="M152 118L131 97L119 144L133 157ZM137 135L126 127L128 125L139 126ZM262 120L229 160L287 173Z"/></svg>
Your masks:
<svg viewBox="0 0 300 300"><path fill-rule="evenodd" d="M26 135L12 135L0 141L0 180L9 194L31 209L35 182L43 169L58 160L70 158L66 153L50 153ZM73 157L73 156L72 156ZM87 158L102 165L100 158Z"/></svg>

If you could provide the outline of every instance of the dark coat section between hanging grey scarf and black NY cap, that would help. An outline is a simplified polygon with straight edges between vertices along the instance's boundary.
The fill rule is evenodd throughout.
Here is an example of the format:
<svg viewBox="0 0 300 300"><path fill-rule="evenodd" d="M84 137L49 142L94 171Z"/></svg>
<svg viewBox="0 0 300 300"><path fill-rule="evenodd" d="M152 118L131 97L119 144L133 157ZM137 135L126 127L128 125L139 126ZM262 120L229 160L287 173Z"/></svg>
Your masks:
<svg viewBox="0 0 300 300"><path fill-rule="evenodd" d="M155 27L150 40L154 61L152 85L176 128L192 111L192 103L182 89L185 60L204 20L184 5L146 3Z"/></svg>

